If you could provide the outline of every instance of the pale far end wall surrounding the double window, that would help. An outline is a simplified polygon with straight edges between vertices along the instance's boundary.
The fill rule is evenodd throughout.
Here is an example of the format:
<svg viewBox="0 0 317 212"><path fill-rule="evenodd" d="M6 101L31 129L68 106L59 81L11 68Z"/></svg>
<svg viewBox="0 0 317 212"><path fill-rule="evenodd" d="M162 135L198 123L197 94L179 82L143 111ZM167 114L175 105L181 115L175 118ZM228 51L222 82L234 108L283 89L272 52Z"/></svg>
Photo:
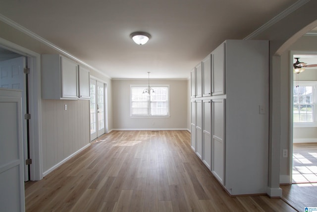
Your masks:
<svg viewBox="0 0 317 212"><path fill-rule="evenodd" d="M131 118L131 84L147 85L148 80L112 80L113 129L187 129L187 80L150 80L150 85L169 85L168 118Z"/></svg>

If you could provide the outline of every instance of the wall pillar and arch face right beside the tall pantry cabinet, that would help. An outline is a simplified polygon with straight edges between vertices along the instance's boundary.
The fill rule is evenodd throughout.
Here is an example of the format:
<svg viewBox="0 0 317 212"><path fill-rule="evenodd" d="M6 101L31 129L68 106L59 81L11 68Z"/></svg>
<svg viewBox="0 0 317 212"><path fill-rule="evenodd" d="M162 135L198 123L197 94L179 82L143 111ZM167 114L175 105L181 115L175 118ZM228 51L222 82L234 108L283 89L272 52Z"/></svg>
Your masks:
<svg viewBox="0 0 317 212"><path fill-rule="evenodd" d="M282 195L279 188L281 166L278 161L281 160L281 143L283 142L281 128L288 125L288 122L285 123L281 115L285 107L281 105L283 102L281 101L281 73L283 70L280 56L303 34L317 26L316 7L316 0L308 1L290 13L283 13L285 15L283 18L271 26L257 30L254 35L248 37L249 39L269 40L269 168L267 190L269 196Z"/></svg>

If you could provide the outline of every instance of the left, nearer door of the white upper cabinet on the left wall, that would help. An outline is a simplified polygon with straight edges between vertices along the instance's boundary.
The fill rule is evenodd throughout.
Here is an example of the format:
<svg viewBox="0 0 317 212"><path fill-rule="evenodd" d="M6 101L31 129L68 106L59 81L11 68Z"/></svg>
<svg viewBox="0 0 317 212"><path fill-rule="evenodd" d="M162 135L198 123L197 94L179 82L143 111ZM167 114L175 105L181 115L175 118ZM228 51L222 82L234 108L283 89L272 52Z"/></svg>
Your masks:
<svg viewBox="0 0 317 212"><path fill-rule="evenodd" d="M78 98L78 65L66 58L61 57L61 97Z"/></svg>

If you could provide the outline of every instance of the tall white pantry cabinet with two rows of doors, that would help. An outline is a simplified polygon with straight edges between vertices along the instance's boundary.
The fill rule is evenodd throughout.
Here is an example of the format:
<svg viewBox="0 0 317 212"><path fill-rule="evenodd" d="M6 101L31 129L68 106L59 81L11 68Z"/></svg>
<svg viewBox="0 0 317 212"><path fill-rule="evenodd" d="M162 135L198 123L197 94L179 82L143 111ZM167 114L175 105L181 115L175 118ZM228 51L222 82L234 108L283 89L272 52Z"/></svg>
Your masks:
<svg viewBox="0 0 317 212"><path fill-rule="evenodd" d="M226 40L191 72L191 147L230 195L267 190L268 54Z"/></svg>

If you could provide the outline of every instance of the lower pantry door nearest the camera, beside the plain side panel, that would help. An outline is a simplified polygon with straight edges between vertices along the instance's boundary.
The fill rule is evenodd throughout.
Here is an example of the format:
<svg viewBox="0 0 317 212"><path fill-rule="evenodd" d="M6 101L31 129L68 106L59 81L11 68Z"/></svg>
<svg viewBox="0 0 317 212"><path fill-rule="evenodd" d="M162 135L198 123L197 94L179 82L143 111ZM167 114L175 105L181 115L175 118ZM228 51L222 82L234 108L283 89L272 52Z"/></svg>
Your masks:
<svg viewBox="0 0 317 212"><path fill-rule="evenodd" d="M212 100L212 167L211 171L218 181L224 185L225 170L225 100Z"/></svg>

